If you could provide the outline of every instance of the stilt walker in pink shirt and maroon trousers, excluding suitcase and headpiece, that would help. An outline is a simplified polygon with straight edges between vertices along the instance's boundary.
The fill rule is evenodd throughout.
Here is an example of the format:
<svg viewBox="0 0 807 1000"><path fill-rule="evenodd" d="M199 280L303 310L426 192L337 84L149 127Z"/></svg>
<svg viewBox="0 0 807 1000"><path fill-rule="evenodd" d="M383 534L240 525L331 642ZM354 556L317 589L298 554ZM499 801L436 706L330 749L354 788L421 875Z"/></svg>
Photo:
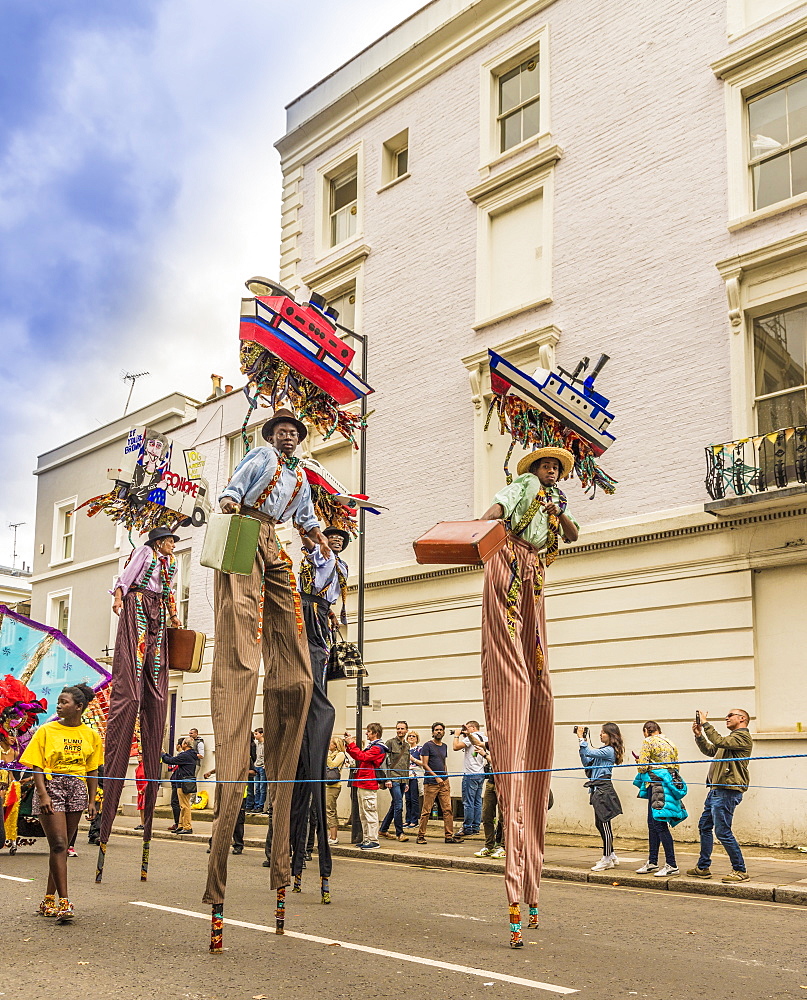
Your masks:
<svg viewBox="0 0 807 1000"><path fill-rule="evenodd" d="M170 623L179 628L174 589L179 537L168 528L154 528L148 542L136 548L115 581L112 610L119 615L112 658L112 694L106 724L104 808L95 881L103 878L107 844L118 811L123 779L129 766L135 722L140 717L143 769L148 782L143 811L141 881L148 872L151 827L160 778L160 751L168 697Z"/></svg>

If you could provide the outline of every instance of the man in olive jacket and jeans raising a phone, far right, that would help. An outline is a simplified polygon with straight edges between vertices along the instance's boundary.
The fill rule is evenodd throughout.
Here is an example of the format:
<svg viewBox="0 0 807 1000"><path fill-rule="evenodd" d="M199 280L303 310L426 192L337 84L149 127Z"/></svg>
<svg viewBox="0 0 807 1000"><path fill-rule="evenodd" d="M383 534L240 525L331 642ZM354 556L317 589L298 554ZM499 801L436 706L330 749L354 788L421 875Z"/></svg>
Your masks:
<svg viewBox="0 0 807 1000"><path fill-rule="evenodd" d="M754 741L748 730L750 717L744 708L732 708L726 716L728 736L721 736L707 721L709 715L703 709L698 713L700 724L692 724L698 749L707 757L714 757L709 768L706 784L709 791L698 821L701 838L701 853L698 863L687 871L696 878L711 878L712 848L714 837L725 848L731 861L732 871L723 878L724 882L747 882L748 872L745 859L737 838L731 829L734 810L742 802L748 790L748 758L754 749Z"/></svg>

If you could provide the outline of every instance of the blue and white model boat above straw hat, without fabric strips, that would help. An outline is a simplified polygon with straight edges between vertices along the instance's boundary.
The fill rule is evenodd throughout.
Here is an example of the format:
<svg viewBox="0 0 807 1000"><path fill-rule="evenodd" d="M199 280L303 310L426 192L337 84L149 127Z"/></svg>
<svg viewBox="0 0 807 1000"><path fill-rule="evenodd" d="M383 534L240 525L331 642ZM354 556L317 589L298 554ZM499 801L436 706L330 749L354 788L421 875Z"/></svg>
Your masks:
<svg viewBox="0 0 807 1000"><path fill-rule="evenodd" d="M571 374L562 368L537 368L527 375L495 351L488 350L488 355L495 393L518 396L555 417L586 440L595 455L602 455L614 443L616 438L608 431L614 419L607 409L609 400L594 390L594 379L608 361L607 354L601 355L585 379L579 376L587 370L588 358L583 358Z"/></svg>

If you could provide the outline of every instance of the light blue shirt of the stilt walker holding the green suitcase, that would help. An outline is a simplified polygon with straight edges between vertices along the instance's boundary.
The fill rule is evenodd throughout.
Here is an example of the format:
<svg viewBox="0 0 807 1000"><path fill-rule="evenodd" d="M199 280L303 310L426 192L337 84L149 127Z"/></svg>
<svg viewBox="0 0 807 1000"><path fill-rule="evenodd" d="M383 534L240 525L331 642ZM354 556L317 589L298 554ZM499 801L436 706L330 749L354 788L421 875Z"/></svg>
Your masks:
<svg viewBox="0 0 807 1000"><path fill-rule="evenodd" d="M269 485L269 481L277 470L277 459L278 452L271 445L265 448L253 448L247 452L238 463L232 479L222 491L219 501L226 497L229 500L235 500L236 503L254 507L255 501ZM294 497L294 503L289 506L296 486L296 473L284 465L280 479L275 483L275 488L264 501L261 510L278 522L288 521L291 518L298 528L302 528L308 534L312 528L319 527L319 521L314 513L314 505L311 502L311 487L308 485L304 472L303 485L297 496Z"/></svg>

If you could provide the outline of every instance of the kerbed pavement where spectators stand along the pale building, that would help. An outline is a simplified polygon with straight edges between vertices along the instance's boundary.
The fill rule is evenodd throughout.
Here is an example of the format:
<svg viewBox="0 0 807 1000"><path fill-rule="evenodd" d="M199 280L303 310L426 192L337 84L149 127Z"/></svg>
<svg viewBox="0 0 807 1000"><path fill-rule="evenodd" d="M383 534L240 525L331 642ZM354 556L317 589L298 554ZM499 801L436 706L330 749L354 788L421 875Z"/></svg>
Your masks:
<svg viewBox="0 0 807 1000"><path fill-rule="evenodd" d="M208 818L202 819L205 816ZM170 811L157 810L154 819L155 838L176 839L167 831L171 824ZM212 828L208 810L194 814L194 833L181 839L206 842ZM119 816L113 830L124 835L134 834L135 817ZM163 829L161 829L163 827ZM334 857L374 858L401 865L436 868L455 868L466 871L504 874L504 862L489 858L476 858L474 853L484 846L484 838L476 835L467 837L463 844L446 844L442 823L432 821L427 831L428 843L415 843L412 831L407 843L381 840L381 847L375 851L360 851L350 844L348 830L340 830L340 844L331 848ZM244 831L244 843L249 847L262 848L266 837L266 818L249 815ZM654 875L637 875L647 860L647 845L643 841L621 839L616 843L619 867L604 872L593 872L591 866L599 860L602 848L599 837L548 834L547 851L543 877L565 882L588 882L600 885L621 885L633 888L651 889L656 892L694 893L700 896L725 896L734 899L755 899L769 902L807 906L807 854L785 848L747 847L743 848L746 866L750 875L748 882L724 884L721 878L731 871L723 849L716 845L712 859L712 878L701 879L687 876L687 868L694 868L698 860L695 844L676 844L676 860L680 875L670 878L656 878Z"/></svg>

